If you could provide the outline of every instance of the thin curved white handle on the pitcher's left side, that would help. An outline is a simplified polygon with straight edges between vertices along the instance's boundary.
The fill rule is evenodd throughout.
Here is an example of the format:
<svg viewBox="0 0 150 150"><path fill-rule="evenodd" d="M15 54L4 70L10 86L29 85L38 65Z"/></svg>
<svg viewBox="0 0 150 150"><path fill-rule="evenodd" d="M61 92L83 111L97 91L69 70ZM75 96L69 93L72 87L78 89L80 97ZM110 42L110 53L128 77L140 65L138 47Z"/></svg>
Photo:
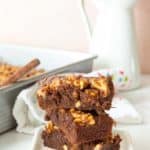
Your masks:
<svg viewBox="0 0 150 150"><path fill-rule="evenodd" d="M91 27L90 19L85 9L85 0L79 0L79 9L80 9L80 12L81 12L81 15L82 15L85 27L86 27L87 36L89 38L89 41L91 41L92 27Z"/></svg>

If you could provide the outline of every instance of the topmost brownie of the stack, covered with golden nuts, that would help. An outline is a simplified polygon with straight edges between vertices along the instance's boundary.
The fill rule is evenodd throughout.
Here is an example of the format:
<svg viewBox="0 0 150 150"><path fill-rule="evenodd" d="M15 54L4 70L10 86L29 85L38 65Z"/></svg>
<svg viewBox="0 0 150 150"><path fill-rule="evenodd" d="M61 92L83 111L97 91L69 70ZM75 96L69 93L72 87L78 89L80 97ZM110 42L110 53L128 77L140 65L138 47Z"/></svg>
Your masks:
<svg viewBox="0 0 150 150"><path fill-rule="evenodd" d="M42 109L76 108L78 110L108 110L114 87L111 77L66 75L49 77L40 82L37 91Z"/></svg>

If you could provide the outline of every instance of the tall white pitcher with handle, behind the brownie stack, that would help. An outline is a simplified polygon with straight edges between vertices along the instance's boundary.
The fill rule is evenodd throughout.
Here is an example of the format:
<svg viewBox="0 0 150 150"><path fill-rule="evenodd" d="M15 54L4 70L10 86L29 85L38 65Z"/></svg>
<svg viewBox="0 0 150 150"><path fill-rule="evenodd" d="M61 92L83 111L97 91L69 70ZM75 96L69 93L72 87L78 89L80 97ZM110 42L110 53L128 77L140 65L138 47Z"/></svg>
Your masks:
<svg viewBox="0 0 150 150"><path fill-rule="evenodd" d="M133 7L136 0L93 0L99 10L97 23L91 29L84 0L80 9L90 39L90 51L98 54L96 68L123 69L136 88L140 84Z"/></svg>

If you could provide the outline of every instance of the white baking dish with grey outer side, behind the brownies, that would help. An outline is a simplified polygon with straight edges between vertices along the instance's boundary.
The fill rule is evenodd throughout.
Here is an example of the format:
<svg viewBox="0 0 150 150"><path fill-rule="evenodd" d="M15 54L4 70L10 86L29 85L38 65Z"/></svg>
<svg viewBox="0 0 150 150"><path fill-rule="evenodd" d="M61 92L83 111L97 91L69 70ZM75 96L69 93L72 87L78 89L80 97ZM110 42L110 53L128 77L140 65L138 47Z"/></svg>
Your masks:
<svg viewBox="0 0 150 150"><path fill-rule="evenodd" d="M18 93L44 76L66 72L90 72L96 55L64 50L0 45L0 61L24 65L33 58L41 61L46 73L0 89L0 133L15 127L12 107Z"/></svg>

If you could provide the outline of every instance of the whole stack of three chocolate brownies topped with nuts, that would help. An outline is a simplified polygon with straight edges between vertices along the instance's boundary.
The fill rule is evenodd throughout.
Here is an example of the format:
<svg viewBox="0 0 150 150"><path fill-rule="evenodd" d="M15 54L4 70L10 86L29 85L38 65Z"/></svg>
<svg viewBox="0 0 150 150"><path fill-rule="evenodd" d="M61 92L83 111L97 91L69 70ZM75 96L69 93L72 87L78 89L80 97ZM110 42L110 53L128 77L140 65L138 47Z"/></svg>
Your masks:
<svg viewBox="0 0 150 150"><path fill-rule="evenodd" d="M110 77L66 75L40 82L39 106L48 123L42 132L44 145L56 150L119 150L113 136L111 108L114 87Z"/></svg>

